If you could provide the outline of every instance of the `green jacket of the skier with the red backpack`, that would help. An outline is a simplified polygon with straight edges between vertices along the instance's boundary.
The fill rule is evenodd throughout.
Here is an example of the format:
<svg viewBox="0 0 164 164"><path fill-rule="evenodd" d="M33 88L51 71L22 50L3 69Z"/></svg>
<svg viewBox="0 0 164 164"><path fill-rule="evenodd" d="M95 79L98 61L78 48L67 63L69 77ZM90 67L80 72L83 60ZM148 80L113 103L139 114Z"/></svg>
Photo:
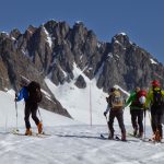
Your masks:
<svg viewBox="0 0 164 164"><path fill-rule="evenodd" d="M141 106L134 104L134 102L137 101L137 93L133 91L129 98L126 101L126 106L128 106L130 104L130 109L141 109Z"/></svg>

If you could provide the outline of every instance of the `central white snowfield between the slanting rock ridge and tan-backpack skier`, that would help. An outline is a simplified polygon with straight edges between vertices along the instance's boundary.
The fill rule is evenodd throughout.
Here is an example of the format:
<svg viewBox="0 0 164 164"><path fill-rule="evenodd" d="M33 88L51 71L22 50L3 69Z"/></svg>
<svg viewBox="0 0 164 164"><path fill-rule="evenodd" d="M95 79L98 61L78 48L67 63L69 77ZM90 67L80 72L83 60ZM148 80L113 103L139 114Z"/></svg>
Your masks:
<svg viewBox="0 0 164 164"><path fill-rule="evenodd" d="M87 82L85 89L78 89L74 81L56 86L49 79L46 83L70 115L84 124L105 124L103 112L106 109L106 93L98 90L94 81Z"/></svg>

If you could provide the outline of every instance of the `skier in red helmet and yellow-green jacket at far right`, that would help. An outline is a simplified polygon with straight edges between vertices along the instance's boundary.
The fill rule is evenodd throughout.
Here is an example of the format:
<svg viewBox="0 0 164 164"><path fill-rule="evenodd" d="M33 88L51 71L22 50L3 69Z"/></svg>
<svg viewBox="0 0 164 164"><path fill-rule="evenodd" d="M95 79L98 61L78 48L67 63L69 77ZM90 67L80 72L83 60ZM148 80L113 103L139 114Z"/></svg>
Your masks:
<svg viewBox="0 0 164 164"><path fill-rule="evenodd" d="M149 90L145 105L151 110L152 139L161 141L163 138L164 91L157 80L152 81L152 87Z"/></svg>

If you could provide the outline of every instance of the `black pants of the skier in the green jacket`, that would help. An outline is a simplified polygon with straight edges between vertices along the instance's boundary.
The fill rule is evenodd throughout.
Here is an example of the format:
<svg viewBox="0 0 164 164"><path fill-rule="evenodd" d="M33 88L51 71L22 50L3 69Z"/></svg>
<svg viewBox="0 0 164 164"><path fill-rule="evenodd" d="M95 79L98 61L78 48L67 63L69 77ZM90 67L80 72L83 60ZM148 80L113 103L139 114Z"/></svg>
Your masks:
<svg viewBox="0 0 164 164"><path fill-rule="evenodd" d="M132 128L143 132L143 109L130 109Z"/></svg>

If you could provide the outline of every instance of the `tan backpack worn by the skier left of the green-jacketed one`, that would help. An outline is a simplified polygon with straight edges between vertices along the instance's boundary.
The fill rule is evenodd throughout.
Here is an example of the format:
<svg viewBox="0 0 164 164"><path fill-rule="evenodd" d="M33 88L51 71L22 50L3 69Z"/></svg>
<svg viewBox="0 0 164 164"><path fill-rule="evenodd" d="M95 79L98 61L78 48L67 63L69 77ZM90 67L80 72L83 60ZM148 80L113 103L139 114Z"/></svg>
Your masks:
<svg viewBox="0 0 164 164"><path fill-rule="evenodd" d="M124 106L122 96L118 90L115 90L112 93L110 105L112 105L112 108L121 108Z"/></svg>

